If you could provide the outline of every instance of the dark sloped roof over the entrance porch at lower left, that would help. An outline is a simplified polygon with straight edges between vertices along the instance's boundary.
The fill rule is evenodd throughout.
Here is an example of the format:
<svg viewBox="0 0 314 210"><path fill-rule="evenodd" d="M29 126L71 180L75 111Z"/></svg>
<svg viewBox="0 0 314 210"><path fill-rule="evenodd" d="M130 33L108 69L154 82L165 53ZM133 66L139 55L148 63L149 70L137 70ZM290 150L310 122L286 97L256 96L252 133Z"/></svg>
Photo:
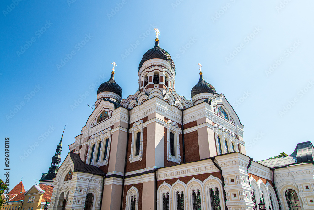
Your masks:
<svg viewBox="0 0 314 210"><path fill-rule="evenodd" d="M70 152L70 158L74 163L73 173L84 172L84 173L91 173L91 174L100 175L100 176L105 175L105 173L102 170L100 170L97 166L85 164L81 160L80 156L76 153Z"/></svg>

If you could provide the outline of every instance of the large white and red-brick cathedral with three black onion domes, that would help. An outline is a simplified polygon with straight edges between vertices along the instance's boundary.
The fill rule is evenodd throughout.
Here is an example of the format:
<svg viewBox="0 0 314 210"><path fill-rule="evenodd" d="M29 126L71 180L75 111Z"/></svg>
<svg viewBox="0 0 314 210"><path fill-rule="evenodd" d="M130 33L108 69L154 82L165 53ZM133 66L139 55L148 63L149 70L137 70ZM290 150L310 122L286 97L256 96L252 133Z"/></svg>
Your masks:
<svg viewBox="0 0 314 210"><path fill-rule="evenodd" d="M158 35L156 29L154 48L139 63L138 90L126 99L112 63L59 166L61 138L41 178L53 185L49 210L314 209L312 143L253 161L244 125L204 80L200 63L192 100L176 92L176 67Z"/></svg>

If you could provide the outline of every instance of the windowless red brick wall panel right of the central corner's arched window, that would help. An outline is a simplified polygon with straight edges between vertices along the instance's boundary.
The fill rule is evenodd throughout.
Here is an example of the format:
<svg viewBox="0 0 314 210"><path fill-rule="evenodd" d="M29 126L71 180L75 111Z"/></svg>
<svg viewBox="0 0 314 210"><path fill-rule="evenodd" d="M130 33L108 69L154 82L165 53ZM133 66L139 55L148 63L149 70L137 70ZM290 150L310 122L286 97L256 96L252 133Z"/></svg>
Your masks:
<svg viewBox="0 0 314 210"><path fill-rule="evenodd" d="M199 160L198 134L197 131L184 134L185 162Z"/></svg>

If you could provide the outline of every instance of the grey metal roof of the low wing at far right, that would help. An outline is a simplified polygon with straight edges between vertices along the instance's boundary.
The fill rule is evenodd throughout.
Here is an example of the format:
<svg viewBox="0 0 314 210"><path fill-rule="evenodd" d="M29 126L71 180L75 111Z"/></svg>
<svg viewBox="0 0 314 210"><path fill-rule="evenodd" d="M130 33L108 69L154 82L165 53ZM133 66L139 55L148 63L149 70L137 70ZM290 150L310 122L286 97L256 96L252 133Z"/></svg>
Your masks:
<svg viewBox="0 0 314 210"><path fill-rule="evenodd" d="M314 149L310 141L302 142L296 145L293 153L286 157L273 158L268 160L257 161L267 167L283 167L294 163L313 161Z"/></svg>

